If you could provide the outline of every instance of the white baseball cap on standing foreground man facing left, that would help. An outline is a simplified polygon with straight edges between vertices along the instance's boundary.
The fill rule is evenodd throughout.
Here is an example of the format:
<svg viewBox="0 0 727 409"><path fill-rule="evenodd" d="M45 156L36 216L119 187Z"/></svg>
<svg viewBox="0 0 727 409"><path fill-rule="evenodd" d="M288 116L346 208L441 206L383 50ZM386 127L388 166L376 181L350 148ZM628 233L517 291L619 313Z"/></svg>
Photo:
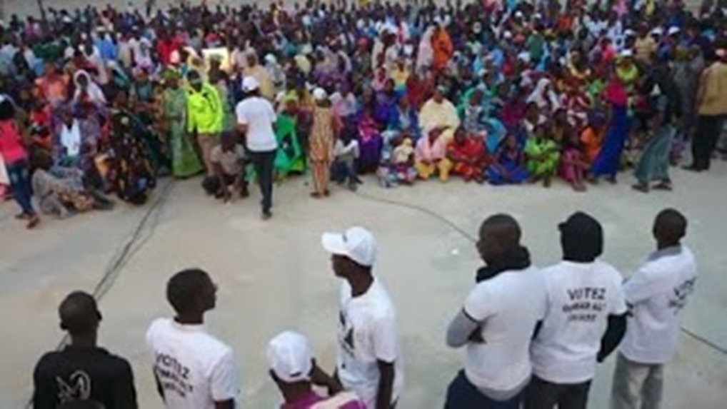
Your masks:
<svg viewBox="0 0 727 409"><path fill-rule="evenodd" d="M364 227L351 227L342 233L324 233L321 243L329 253L346 256L361 266L371 267L376 262L376 240Z"/></svg>

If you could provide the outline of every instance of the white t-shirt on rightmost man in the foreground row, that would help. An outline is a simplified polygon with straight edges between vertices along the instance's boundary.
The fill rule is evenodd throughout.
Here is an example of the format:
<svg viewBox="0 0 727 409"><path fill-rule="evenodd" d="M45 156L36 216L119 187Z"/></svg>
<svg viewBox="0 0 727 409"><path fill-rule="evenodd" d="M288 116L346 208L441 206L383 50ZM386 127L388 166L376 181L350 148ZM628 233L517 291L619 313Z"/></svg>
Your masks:
<svg viewBox="0 0 727 409"><path fill-rule="evenodd" d="M624 295L632 317L619 350L628 360L672 360L679 344L679 312L695 282L696 262L686 246L657 251L627 280Z"/></svg>

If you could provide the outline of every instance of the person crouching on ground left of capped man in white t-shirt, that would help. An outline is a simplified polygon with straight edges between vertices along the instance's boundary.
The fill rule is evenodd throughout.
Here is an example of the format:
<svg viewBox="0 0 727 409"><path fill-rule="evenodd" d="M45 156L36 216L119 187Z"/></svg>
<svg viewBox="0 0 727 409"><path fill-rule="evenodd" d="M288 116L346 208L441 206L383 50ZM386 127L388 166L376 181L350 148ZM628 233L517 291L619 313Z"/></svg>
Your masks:
<svg viewBox="0 0 727 409"><path fill-rule="evenodd" d="M210 158L214 176L206 177L202 182L206 193L225 203L232 198L230 190L238 191L241 198L246 198L249 193L245 180L245 151L233 132L222 133L220 145L212 148Z"/></svg>

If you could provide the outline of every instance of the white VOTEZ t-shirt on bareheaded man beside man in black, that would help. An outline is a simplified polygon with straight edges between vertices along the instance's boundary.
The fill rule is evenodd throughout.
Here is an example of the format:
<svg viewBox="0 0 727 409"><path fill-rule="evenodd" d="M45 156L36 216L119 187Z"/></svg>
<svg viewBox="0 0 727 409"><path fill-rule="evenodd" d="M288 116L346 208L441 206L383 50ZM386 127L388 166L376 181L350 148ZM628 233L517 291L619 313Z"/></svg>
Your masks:
<svg viewBox="0 0 727 409"><path fill-rule="evenodd" d="M154 373L170 409L214 409L239 393L232 349L203 325L158 318L146 333Z"/></svg>

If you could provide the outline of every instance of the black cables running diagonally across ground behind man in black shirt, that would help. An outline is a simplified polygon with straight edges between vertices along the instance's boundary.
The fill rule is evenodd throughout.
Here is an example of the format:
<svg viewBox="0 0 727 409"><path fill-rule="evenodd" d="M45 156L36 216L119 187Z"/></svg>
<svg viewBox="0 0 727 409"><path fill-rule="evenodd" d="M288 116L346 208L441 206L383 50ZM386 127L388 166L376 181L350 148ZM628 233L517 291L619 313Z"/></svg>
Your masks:
<svg viewBox="0 0 727 409"><path fill-rule="evenodd" d="M166 203L166 199L169 198L169 195L172 193L172 188L174 187L175 183L176 182L174 181L174 179L172 179L167 182L166 185L164 185L163 190L161 190L161 194L159 194L156 200L149 206L146 213L139 221L139 224L137 224L137 227L134 229L134 232L132 232L132 235L129 237L128 240L126 240L126 243L124 243L119 248L119 250L116 251L116 254L111 257L111 260L108 262L107 267L104 270L104 274L101 277L101 280L99 280L92 292L92 295L97 302L103 299L103 296L105 296L106 293L111 290L113 284L116 283L116 278L119 277L119 272L121 272L126 264L129 263L129 260L132 259L134 254L137 254L137 252L153 236L154 231L156 230L156 225L159 221L159 216L161 215L161 210L164 206L164 203ZM153 219L151 216L154 216ZM149 220L152 220L152 222L148 225L148 233L145 238L140 241L142 232L145 230L145 227L147 227ZM60 339L60 342L58 342L58 344L56 345L55 350L60 351L60 349L63 349L63 347L68 344L69 340L70 337L68 336L68 333L66 333L63 338ZM31 395L31 398L28 400L28 404L25 405L25 408L28 409L32 407L33 397Z"/></svg>

